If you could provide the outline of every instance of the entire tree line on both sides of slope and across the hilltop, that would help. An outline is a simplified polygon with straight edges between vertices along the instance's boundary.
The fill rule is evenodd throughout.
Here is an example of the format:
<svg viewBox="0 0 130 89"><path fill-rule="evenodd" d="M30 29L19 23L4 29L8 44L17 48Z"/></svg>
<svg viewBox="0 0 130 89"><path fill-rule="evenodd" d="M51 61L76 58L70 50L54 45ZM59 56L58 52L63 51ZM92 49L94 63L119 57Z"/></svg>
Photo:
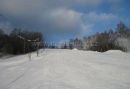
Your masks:
<svg viewBox="0 0 130 89"><path fill-rule="evenodd" d="M32 32L15 28L10 34L0 29L0 53L24 54L36 51L39 48L59 48L45 43L41 32ZM93 50L105 52L107 50L130 51L130 28L123 22L117 24L116 29L96 33L81 39L70 39L61 45L62 49L77 48L80 50Z"/></svg>

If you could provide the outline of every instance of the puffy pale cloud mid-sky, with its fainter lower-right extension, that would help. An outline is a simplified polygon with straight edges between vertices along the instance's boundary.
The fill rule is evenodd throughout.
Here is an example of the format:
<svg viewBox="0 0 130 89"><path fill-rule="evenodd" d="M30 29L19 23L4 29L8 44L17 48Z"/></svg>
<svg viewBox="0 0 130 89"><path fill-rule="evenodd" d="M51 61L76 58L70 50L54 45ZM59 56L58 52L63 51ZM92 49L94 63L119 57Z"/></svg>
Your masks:
<svg viewBox="0 0 130 89"><path fill-rule="evenodd" d="M43 15L43 19L47 23L47 27L55 32L75 33L78 37L84 36L87 32L91 32L94 23L86 23L83 21L84 13L74 10L59 8L54 9Z"/></svg>

